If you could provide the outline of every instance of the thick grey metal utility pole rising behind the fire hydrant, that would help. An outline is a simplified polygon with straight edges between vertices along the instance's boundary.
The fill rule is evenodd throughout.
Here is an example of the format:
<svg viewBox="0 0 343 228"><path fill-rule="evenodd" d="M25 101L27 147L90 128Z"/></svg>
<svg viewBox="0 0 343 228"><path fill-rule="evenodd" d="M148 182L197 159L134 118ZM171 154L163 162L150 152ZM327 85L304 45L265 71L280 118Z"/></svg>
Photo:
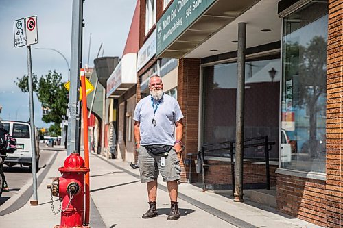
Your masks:
<svg viewBox="0 0 343 228"><path fill-rule="evenodd" d="M71 77L69 94L67 155L79 151L80 144L80 64L82 47L82 0L73 0L73 16L71 24Z"/></svg>

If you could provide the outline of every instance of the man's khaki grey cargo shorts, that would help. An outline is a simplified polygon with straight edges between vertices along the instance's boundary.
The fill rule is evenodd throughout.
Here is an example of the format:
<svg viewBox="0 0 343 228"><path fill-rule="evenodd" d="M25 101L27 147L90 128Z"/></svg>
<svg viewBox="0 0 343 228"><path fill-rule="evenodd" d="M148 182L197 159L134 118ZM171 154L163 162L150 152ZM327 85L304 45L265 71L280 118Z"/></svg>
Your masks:
<svg viewBox="0 0 343 228"><path fill-rule="evenodd" d="M141 174L141 182L147 183L157 179L161 173L163 181L177 181L180 179L181 168L178 160L178 155L171 149L165 157L165 166L161 165L161 155L153 155L147 152L144 146L137 149L139 160L139 173Z"/></svg>

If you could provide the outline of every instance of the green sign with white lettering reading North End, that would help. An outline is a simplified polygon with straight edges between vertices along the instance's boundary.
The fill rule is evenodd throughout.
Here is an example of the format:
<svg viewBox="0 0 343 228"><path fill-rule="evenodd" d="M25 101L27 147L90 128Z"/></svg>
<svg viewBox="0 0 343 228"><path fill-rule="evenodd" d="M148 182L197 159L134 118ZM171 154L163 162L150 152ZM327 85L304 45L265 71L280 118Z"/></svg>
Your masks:
<svg viewBox="0 0 343 228"><path fill-rule="evenodd" d="M175 0L157 22L156 55L160 55L216 0Z"/></svg>

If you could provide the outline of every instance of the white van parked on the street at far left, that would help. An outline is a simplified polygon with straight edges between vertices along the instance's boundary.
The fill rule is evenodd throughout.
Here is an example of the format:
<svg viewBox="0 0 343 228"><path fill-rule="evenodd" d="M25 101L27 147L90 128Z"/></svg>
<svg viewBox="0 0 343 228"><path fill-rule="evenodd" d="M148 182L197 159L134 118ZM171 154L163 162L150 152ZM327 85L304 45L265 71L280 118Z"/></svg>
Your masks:
<svg viewBox="0 0 343 228"><path fill-rule="evenodd" d="M16 151L9 153L5 158L4 164L14 166L20 164L21 166L29 166L32 170L32 147L31 147L31 126L27 122L21 121L1 121L3 127L16 138ZM36 132L36 168L39 166L39 136Z"/></svg>

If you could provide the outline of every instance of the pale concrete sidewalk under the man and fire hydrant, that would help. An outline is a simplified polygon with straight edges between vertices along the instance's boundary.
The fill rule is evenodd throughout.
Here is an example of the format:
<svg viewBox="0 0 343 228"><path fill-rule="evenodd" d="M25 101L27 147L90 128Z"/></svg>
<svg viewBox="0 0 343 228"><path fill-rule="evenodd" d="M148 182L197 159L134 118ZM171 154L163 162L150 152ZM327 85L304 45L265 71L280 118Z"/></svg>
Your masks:
<svg viewBox="0 0 343 228"><path fill-rule="evenodd" d="M51 212L51 192L47 184L49 177L60 177L58 167L63 165L65 151L56 152L51 165L41 168L38 175L46 176L38 187L39 205L32 207L29 201L23 207L10 212L13 205L21 199L25 190L32 188L30 183L19 194L0 207L0 227L54 227L59 224L60 214ZM91 227L318 227L303 220L281 214L269 207L257 207L254 203L234 203L232 199L213 192L202 192L188 183L179 186L179 220L167 221L169 196L166 184L159 179L158 214L151 219L142 219L146 212L146 185L139 181L139 170L133 170L127 162L106 160L100 155L90 155L91 164ZM32 184L32 183L31 183ZM60 205L54 197L55 210Z"/></svg>

